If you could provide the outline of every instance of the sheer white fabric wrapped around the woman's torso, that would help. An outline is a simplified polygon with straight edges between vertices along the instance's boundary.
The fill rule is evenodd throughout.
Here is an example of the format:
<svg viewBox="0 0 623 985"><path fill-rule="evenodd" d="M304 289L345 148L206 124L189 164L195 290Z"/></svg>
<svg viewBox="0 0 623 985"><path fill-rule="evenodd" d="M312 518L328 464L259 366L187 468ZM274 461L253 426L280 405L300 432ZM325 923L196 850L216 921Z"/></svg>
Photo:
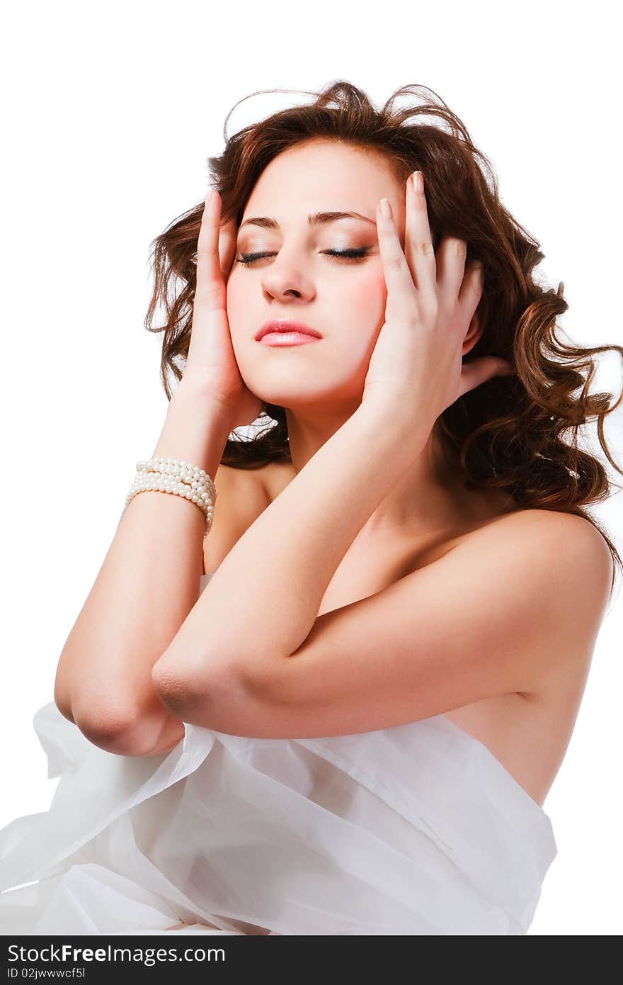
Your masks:
<svg viewBox="0 0 623 985"><path fill-rule="evenodd" d="M60 780L0 831L3 934L525 934L557 854L444 715L296 740L186 724L152 756L98 749L53 701L33 725Z"/></svg>

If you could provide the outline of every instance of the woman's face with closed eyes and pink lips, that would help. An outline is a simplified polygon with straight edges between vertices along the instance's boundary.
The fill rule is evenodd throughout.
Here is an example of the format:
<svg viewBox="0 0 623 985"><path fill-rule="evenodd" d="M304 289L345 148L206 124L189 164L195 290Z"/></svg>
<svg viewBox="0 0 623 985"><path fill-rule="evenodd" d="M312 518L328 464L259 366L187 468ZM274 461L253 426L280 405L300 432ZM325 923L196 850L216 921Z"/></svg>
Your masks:
<svg viewBox="0 0 623 985"><path fill-rule="evenodd" d="M377 154L314 139L283 151L260 175L237 230L226 296L242 378L268 403L292 410L332 403L354 410L360 403L385 321L376 230L383 197L392 204L404 246L405 185ZM362 218L308 222L321 212ZM356 251L355 259L329 252L345 250ZM256 253L268 255L249 256ZM240 262L245 259L251 262ZM303 345L256 341L266 321L283 318L322 338Z"/></svg>

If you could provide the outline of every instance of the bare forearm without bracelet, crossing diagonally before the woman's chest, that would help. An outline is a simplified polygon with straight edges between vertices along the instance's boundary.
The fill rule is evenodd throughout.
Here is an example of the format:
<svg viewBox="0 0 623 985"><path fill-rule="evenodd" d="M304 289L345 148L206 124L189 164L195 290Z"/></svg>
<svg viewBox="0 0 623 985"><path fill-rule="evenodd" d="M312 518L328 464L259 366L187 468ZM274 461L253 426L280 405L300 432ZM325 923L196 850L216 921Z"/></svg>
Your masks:
<svg viewBox="0 0 623 985"><path fill-rule="evenodd" d="M429 432L406 435L361 405L221 561L158 665L163 675L177 670L201 689L218 668L252 671L293 653L347 549Z"/></svg>

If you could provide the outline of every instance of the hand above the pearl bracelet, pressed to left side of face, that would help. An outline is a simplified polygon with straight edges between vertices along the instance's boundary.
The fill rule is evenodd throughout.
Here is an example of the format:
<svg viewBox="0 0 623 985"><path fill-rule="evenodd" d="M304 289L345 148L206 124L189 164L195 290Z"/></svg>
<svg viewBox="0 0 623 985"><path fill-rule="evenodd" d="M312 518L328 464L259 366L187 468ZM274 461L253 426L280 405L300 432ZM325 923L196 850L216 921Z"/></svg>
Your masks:
<svg viewBox="0 0 623 985"><path fill-rule="evenodd" d="M180 386L192 386L215 401L233 428L253 424L262 411L262 400L242 379L231 344L226 278L235 255L236 225L230 219L220 226L220 207L214 189L212 196L206 196L199 230L193 321Z"/></svg>

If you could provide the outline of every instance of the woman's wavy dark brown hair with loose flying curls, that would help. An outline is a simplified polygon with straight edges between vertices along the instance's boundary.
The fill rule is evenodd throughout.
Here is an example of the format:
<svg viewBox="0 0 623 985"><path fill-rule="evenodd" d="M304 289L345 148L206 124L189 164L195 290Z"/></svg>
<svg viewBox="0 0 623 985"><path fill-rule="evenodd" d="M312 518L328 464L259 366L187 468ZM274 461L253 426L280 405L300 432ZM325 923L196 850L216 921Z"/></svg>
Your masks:
<svg viewBox="0 0 623 985"><path fill-rule="evenodd" d="M267 90L262 92L291 92ZM493 488L511 495L518 508L576 513L599 531L616 567L623 562L588 507L611 494L603 464L578 447L580 428L596 421L608 462L623 475L605 441L603 421L623 399L589 392L599 353L616 345L582 347L563 340L556 319L568 309L564 285L556 291L536 284L532 272L543 259L539 243L500 201L488 159L474 147L467 128L436 93L425 86L404 86L381 109L356 86L338 81L310 104L285 109L244 127L231 137L223 127L225 148L209 159L212 184L222 200L221 223L242 216L263 169L281 151L323 137L384 156L399 180L419 168L434 245L443 236L467 241L467 262L483 265L478 305L482 334L465 360L499 356L516 367L514 376L496 376L469 390L448 407L435 427L449 462L459 469L465 488ZM259 95L259 94L252 94ZM405 96L415 104L400 107ZM246 97L248 99L249 97ZM242 100L239 100L242 101ZM179 381L188 355L196 285L196 251L204 202L175 219L152 242L154 292L145 326L162 333L160 377L170 399L169 376ZM158 303L164 324L155 326ZM220 462L254 469L288 461L285 412L264 403L255 436L227 440ZM261 419L259 419L261 420Z"/></svg>

